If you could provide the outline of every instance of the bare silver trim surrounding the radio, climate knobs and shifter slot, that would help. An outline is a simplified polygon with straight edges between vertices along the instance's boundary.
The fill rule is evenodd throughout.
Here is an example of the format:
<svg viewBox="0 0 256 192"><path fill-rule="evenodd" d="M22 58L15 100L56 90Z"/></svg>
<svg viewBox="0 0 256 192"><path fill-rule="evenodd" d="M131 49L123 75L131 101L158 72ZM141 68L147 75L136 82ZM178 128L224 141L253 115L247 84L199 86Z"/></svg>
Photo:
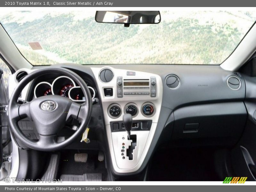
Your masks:
<svg viewBox="0 0 256 192"><path fill-rule="evenodd" d="M103 67L106 68L106 67ZM150 79L151 76L156 77L156 86L157 86L157 92L156 92L156 97L150 97L150 95L125 95L122 98L117 97L117 77L114 76L113 80L111 80L108 83L103 83L100 81L99 78L99 72L103 69L101 67L91 67L93 75L95 77L98 91L99 91L99 96L101 97L101 102L102 102L102 108L103 108L103 115L104 115L104 123L105 123L105 128L107 132L107 140L108 140L108 146L109 146L109 151L110 151L110 156L111 156L111 163L112 167L115 172L118 173L131 173L131 172L136 172L137 170L140 169L141 165L143 164L145 157L148 153L148 149L151 145L151 142L153 140L155 131L156 131L156 126L158 123L158 119L160 116L160 109L162 106L162 99L163 99L163 82L162 79L159 75L153 74L153 73L147 73L147 72L142 72L142 71L135 71L136 76L127 76L127 70L125 69L118 69L118 68L113 68L108 66L107 68L111 69L113 73L118 74L118 76L122 76L123 79ZM113 88L113 96L111 97L106 97L104 95L104 88ZM136 134L138 138L143 138L141 140L140 144L134 149L133 154L135 154L135 158L133 160L124 160L121 159L121 151L120 146L119 146L119 139L121 136L125 136L127 134L126 132L111 132L110 128L110 122L113 121L122 121L123 120L123 115L124 110L122 110L121 115L117 118L112 118L111 116L108 115L108 107L113 104L117 103L121 106L121 109L124 109L124 107L128 103L135 103L138 106L139 113L137 116L133 117L133 120L152 120L152 125L150 128L150 131L132 131L131 134ZM151 102L155 106L155 114L151 117L143 116L141 114L141 106L145 102ZM147 134L146 134L147 133ZM128 141L127 141L128 142ZM128 142L129 143L129 142ZM137 150L137 151L136 151ZM117 151L117 153L115 153ZM136 155L137 154L137 155ZM122 163L123 162L123 163Z"/></svg>

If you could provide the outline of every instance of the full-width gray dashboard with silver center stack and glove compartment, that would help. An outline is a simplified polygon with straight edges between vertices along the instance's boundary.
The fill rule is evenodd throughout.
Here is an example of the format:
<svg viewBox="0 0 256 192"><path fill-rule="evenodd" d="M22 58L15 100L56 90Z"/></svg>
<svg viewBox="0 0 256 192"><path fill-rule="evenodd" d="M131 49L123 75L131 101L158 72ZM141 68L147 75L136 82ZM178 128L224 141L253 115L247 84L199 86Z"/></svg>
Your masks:
<svg viewBox="0 0 256 192"><path fill-rule="evenodd" d="M160 141L179 146L230 146L243 132L247 114L243 103L244 78L220 66L60 64L58 67L76 72L88 85L92 98L99 99L93 105L89 127L92 132L97 130L97 134L102 131L99 138L106 139L103 147L107 147L115 174L140 172ZM43 67L20 69L15 74L40 68ZM17 84L15 74L9 80L12 85L9 95ZM76 82L58 74L38 77L24 88L20 99L32 100L48 94L84 102ZM125 155L131 145L122 123L126 113L132 115L132 135L137 140L132 158ZM93 142L92 132L92 141L86 146Z"/></svg>

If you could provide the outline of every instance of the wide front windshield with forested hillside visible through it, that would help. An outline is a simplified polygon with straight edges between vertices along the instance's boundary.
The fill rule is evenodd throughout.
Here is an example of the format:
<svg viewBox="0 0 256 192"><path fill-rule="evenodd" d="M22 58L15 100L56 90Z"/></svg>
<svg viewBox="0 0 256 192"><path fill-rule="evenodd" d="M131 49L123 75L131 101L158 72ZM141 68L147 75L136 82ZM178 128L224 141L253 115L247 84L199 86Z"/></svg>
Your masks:
<svg viewBox="0 0 256 192"><path fill-rule="evenodd" d="M256 11L160 11L159 24L97 23L95 11L0 13L33 65L220 64L256 20Z"/></svg>

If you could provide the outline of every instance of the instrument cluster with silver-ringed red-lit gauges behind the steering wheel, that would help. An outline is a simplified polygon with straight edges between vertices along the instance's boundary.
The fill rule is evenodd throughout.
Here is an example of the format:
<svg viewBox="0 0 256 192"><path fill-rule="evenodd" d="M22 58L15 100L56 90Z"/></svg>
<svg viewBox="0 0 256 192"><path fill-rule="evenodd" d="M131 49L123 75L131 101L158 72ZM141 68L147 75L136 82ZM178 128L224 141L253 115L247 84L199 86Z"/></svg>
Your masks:
<svg viewBox="0 0 256 192"><path fill-rule="evenodd" d="M92 99L95 98L96 92L88 86ZM73 79L68 76L59 76L53 80L52 84L43 81L38 83L34 89L34 97L41 97L46 95L60 95L67 97L73 101L84 102L85 97L80 86L77 86Z"/></svg>

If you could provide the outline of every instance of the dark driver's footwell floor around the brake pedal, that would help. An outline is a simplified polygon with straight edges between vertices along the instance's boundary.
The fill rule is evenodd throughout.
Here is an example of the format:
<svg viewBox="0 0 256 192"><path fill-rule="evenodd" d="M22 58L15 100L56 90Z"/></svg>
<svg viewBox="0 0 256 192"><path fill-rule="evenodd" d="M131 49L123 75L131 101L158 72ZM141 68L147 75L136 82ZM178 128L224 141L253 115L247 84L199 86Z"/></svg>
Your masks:
<svg viewBox="0 0 256 192"><path fill-rule="evenodd" d="M87 153L87 162L75 162L76 153ZM105 168L105 161L98 161L98 151L84 151L84 150L65 150L61 151L60 168L58 177L61 175L76 175L83 176L88 173L102 174L102 180L107 180L107 170Z"/></svg>

